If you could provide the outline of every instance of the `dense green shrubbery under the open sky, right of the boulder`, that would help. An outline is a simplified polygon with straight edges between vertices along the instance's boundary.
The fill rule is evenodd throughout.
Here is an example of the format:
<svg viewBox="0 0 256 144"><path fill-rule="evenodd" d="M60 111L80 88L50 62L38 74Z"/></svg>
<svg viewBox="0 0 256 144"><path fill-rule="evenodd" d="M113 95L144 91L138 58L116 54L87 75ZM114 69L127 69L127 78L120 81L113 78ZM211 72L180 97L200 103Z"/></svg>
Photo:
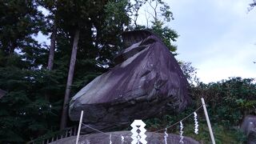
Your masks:
<svg viewBox="0 0 256 144"><path fill-rule="evenodd" d="M214 122L237 126L243 115L256 114L256 84L253 78L230 78L209 84L201 82L192 87L191 94L195 100L205 98Z"/></svg>

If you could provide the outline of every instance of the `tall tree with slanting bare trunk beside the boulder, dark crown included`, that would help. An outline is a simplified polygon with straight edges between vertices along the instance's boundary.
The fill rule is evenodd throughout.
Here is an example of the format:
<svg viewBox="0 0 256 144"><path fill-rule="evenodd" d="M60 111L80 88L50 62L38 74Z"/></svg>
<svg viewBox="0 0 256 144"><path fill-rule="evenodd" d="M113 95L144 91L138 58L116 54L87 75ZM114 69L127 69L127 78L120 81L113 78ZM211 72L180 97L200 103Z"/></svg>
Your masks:
<svg viewBox="0 0 256 144"><path fill-rule="evenodd" d="M67 122L67 111L68 111L68 102L70 98L71 85L74 78L74 66L77 57L78 51L78 41L80 38L80 31L82 29L91 29L92 22L91 18L94 18L95 15L98 15L98 11L102 10L104 2L99 1L69 1L63 0L60 7L58 7L57 14L59 14L59 22L63 24L63 30L67 30L70 34L73 35L73 46L72 54L70 58L70 69L68 73L68 78L66 82L66 92L64 96L63 109L62 109L62 118L60 128L64 129ZM91 36L91 35L90 35Z"/></svg>

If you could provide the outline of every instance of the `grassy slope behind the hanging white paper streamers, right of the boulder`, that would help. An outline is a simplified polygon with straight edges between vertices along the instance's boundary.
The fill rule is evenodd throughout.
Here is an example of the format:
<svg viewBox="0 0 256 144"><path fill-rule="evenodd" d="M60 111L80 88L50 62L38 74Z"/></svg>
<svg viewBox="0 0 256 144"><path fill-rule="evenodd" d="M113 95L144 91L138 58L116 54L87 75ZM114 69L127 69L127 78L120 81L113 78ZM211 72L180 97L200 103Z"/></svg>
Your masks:
<svg viewBox="0 0 256 144"><path fill-rule="evenodd" d="M172 117L172 118L171 118ZM164 116L162 119L152 118L146 121L146 130L155 131L164 129L166 126L171 126L178 117ZM169 120L168 120L169 119ZM171 119L171 120L170 120ZM198 134L194 134L194 119L187 118L183 123L184 136L194 138L202 144L212 143L210 140L210 133L205 119L200 119ZM230 126L222 125L220 123L212 123L214 131L214 139L217 144L242 144L246 143L246 136L239 130ZM162 131L163 133L163 131ZM168 129L168 133L179 134L179 124Z"/></svg>

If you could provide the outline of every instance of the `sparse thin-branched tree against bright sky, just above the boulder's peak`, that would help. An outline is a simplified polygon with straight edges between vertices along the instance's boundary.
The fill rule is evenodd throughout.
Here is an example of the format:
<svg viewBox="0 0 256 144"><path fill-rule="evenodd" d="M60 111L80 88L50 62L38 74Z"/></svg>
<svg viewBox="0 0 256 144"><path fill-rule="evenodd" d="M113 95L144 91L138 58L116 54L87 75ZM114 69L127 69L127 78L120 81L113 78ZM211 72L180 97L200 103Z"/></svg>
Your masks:
<svg viewBox="0 0 256 144"><path fill-rule="evenodd" d="M145 6L145 17L146 17L146 26L141 26L137 24L138 13L139 10L142 10L141 7ZM173 44L176 42L178 38L178 34L175 30L172 30L169 26L165 26L165 22L170 22L173 20L173 14L170 11L170 6L167 5L166 2L162 0L142 0L135 1L133 5L134 14L130 14L134 16L134 27L132 29L147 29L155 34L157 34L162 41L166 44L166 46L176 55L175 51L177 50L177 46ZM151 26L149 26L149 21L151 22Z"/></svg>

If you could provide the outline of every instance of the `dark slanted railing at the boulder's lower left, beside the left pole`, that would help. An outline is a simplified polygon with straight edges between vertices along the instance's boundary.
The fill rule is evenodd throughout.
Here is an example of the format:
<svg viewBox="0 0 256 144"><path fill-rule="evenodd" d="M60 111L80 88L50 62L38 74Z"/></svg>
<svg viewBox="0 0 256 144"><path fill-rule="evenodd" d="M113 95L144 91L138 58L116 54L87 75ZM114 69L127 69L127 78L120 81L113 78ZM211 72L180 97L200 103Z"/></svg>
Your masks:
<svg viewBox="0 0 256 144"><path fill-rule="evenodd" d="M64 130L60 130L50 135L43 135L42 137L26 142L26 144L48 144L50 142L57 141L58 139L67 138L77 135L77 126L69 127Z"/></svg>

